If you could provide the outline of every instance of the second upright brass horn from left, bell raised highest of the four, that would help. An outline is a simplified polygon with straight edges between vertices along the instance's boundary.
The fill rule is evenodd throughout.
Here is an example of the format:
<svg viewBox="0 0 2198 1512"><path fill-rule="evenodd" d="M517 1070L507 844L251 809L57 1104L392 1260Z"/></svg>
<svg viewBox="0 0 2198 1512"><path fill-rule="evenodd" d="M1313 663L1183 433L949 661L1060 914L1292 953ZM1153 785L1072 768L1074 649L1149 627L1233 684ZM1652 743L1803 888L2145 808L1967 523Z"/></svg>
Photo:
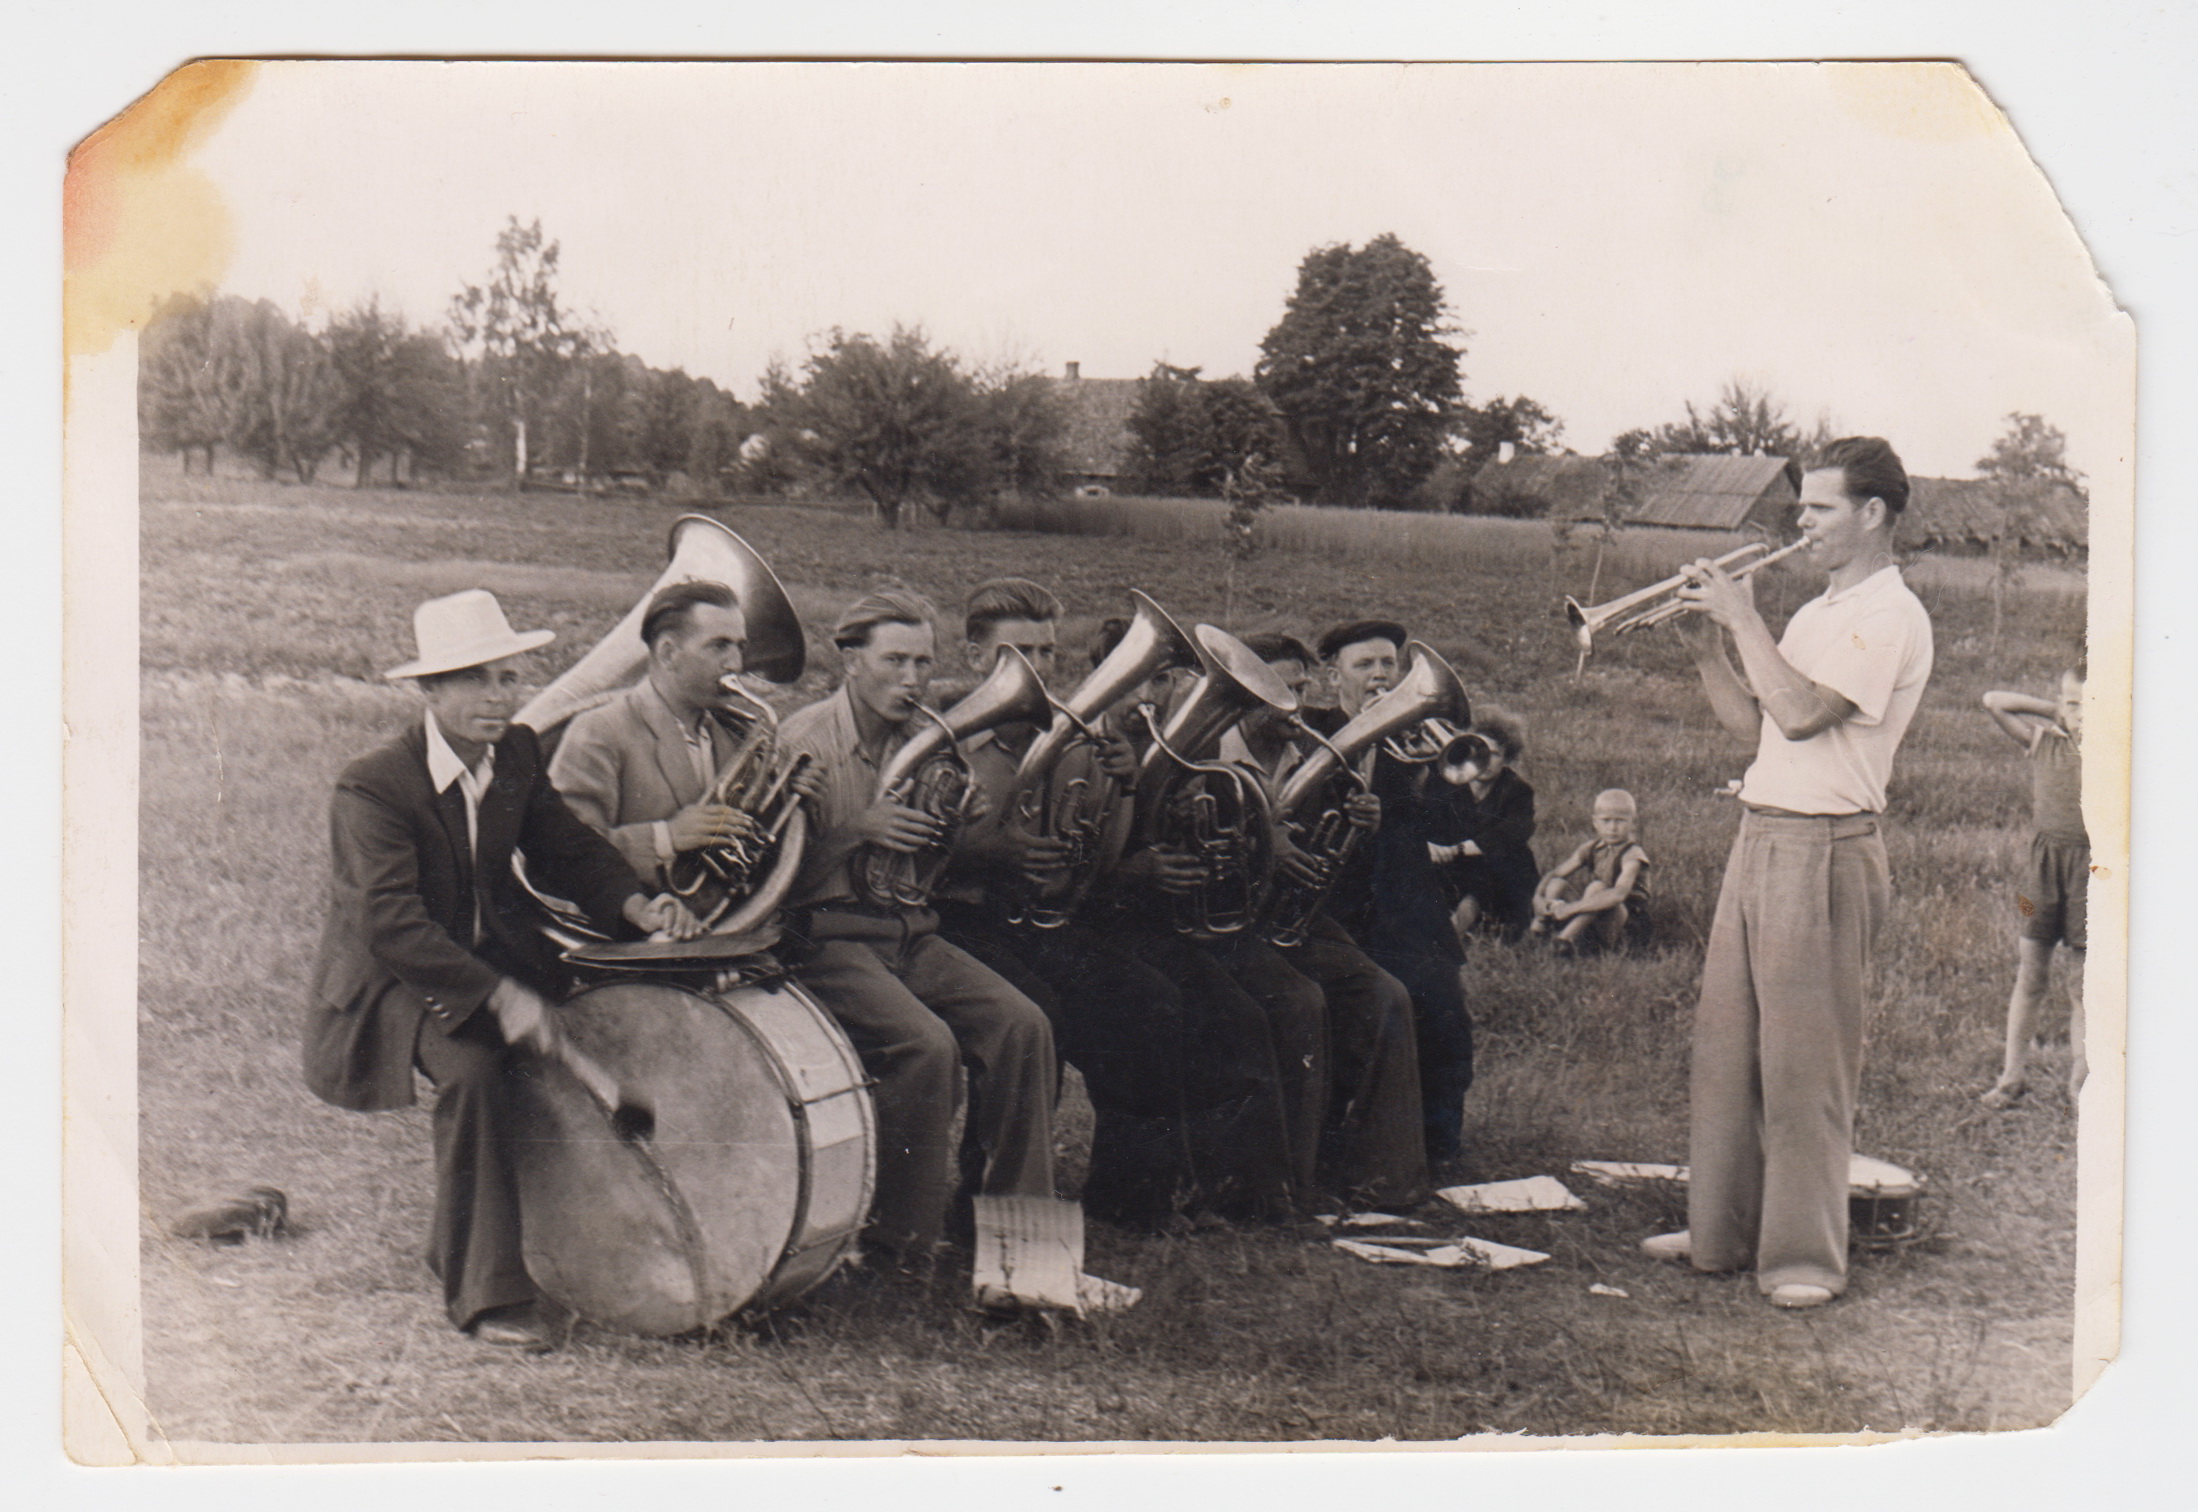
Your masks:
<svg viewBox="0 0 2198 1512"><path fill-rule="evenodd" d="M1198 666L1198 644L1165 609L1130 589L1136 615L1075 692L1051 699L1053 723L1031 741L1015 767L1011 820L1018 829L1068 846L1062 870L1029 879L1015 923L1057 930L1106 870L1108 833L1121 811L1123 785L1099 765L1106 734L1099 721L1139 683L1169 666Z"/></svg>

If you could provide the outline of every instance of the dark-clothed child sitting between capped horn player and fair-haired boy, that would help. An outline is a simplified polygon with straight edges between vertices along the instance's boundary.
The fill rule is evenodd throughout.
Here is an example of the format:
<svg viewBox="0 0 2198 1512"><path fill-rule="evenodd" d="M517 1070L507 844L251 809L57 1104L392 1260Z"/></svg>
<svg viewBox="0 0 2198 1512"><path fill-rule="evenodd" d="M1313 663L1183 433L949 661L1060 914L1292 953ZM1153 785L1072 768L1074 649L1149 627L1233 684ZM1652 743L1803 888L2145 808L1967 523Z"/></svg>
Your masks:
<svg viewBox="0 0 2198 1512"><path fill-rule="evenodd" d="M1517 771L1525 730L1506 710L1475 710L1473 734L1492 747L1490 760L1459 782L1427 785L1429 857L1457 899L1451 925L1464 941L1481 923L1519 938L1534 919L1534 789Z"/></svg>

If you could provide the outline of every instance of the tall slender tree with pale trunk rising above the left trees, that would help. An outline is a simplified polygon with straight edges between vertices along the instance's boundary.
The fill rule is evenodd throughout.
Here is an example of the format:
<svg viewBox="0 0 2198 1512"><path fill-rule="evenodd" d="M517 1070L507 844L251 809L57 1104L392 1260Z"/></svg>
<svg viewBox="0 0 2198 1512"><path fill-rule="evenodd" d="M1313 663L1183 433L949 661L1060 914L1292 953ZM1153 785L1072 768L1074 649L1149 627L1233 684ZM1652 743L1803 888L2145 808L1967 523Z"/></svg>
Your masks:
<svg viewBox="0 0 2198 1512"><path fill-rule="evenodd" d="M497 266L486 284L466 284L451 299L451 336L477 358L512 437L512 477L528 486L528 433L541 435L543 409L571 365L609 345L565 308L556 290L558 244L508 215L497 233Z"/></svg>

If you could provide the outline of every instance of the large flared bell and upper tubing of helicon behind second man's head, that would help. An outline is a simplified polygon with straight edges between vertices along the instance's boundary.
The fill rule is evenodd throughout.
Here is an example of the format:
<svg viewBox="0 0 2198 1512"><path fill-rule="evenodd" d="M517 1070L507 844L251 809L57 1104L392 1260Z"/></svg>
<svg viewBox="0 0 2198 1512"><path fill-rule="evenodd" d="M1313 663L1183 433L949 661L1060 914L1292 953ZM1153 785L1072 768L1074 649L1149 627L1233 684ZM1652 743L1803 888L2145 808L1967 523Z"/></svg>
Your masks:
<svg viewBox="0 0 2198 1512"><path fill-rule="evenodd" d="M681 514L673 521L666 554L668 565L626 618L556 681L528 699L514 723L550 734L574 714L640 681L648 666L642 620L648 618L648 602L675 582L723 582L732 589L741 618L747 620L743 657L747 672L771 683L800 681L809 662L800 615L793 613L793 600L787 598L769 563L752 545L708 514Z"/></svg>

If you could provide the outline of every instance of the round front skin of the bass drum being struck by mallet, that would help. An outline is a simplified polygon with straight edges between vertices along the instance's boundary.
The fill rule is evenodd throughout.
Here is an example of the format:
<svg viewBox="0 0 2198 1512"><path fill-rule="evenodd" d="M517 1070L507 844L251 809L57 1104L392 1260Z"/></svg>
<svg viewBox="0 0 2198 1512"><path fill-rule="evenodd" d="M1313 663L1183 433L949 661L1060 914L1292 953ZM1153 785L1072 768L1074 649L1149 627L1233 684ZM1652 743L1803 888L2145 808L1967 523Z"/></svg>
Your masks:
<svg viewBox="0 0 2198 1512"><path fill-rule="evenodd" d="M662 982L611 982L554 1013L655 1112L655 1130L622 1141L569 1070L525 1061L517 1165L534 1283L585 1319L648 1336L741 1310L802 1202L800 1130L776 1061L714 1000Z"/></svg>

